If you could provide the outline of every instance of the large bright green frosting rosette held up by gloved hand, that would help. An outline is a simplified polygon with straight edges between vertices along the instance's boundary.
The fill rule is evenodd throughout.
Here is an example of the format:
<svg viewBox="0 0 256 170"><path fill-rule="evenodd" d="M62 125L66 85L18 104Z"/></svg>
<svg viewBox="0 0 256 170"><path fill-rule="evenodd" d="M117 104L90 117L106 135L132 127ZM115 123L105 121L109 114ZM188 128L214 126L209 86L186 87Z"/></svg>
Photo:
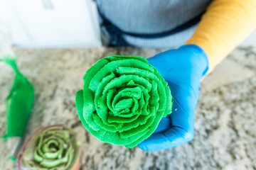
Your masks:
<svg viewBox="0 0 256 170"><path fill-rule="evenodd" d="M144 57L110 56L90 67L75 104L82 125L102 142L132 148L171 113L167 82Z"/></svg>

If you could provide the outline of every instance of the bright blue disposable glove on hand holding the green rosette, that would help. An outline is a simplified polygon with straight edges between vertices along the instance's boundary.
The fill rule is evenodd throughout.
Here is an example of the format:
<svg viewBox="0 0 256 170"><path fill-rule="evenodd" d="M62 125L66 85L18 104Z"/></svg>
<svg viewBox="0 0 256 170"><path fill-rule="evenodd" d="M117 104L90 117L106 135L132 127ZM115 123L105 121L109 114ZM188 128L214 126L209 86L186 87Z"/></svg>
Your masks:
<svg viewBox="0 0 256 170"><path fill-rule="evenodd" d="M156 151L191 141L200 82L208 71L206 53L197 45L183 45L149 58L149 63L168 82L174 107L171 115L162 118L154 134L138 147L145 151Z"/></svg>

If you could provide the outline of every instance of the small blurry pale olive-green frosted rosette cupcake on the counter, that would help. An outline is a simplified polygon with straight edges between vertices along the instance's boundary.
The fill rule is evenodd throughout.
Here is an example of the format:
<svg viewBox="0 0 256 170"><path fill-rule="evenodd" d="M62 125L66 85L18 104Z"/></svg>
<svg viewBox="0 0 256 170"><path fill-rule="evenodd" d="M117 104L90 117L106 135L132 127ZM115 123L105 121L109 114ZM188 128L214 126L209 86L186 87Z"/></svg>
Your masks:
<svg viewBox="0 0 256 170"><path fill-rule="evenodd" d="M78 170L80 142L63 125L38 128L24 142L17 157L18 170Z"/></svg>

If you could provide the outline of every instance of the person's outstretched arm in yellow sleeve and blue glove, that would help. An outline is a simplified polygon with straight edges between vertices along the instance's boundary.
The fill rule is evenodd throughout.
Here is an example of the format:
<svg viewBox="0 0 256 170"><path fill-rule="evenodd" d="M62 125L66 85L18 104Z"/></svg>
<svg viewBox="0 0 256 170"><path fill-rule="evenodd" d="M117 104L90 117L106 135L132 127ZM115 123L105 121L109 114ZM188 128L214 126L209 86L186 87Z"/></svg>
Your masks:
<svg viewBox="0 0 256 170"><path fill-rule="evenodd" d="M146 151L176 147L193 139L194 111L201 78L256 26L256 0L215 0L187 45L149 58L166 79L174 97L171 115L138 145ZM190 45L189 45L190 44Z"/></svg>

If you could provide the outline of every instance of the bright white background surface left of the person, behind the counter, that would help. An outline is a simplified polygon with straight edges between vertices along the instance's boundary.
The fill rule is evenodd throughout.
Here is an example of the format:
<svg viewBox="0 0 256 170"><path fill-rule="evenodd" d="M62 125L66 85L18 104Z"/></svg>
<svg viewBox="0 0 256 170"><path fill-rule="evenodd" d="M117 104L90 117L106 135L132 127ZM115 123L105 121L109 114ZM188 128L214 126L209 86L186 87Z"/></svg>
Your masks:
<svg viewBox="0 0 256 170"><path fill-rule="evenodd" d="M91 0L0 0L0 15L8 18L18 47L98 47L95 11Z"/></svg>

